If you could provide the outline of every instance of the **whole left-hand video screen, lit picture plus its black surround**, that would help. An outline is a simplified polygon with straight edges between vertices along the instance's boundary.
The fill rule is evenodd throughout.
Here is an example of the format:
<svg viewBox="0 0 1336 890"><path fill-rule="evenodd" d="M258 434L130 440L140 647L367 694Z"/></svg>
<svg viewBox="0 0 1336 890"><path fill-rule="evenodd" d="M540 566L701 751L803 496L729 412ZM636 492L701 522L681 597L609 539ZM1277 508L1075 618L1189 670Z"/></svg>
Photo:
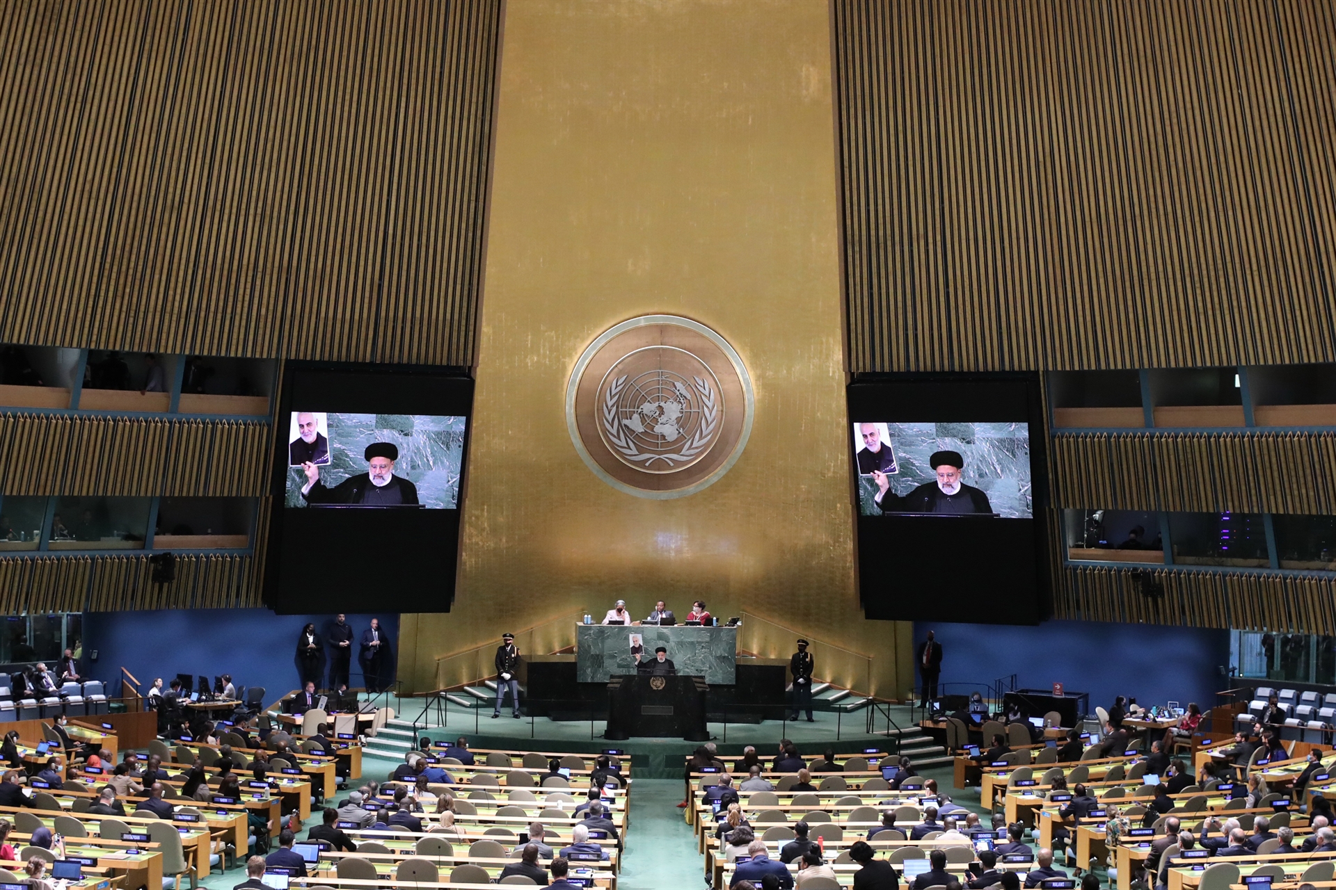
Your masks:
<svg viewBox="0 0 1336 890"><path fill-rule="evenodd" d="M449 611L472 406L473 380L449 368L287 363L270 607Z"/></svg>

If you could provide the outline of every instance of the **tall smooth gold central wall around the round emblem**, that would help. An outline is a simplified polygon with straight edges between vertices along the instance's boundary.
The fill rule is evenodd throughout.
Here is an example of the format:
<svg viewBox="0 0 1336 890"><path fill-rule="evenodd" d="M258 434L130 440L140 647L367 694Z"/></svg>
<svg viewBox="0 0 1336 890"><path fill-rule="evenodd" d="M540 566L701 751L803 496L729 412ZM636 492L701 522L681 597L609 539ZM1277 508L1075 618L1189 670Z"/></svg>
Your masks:
<svg viewBox="0 0 1336 890"><path fill-rule="evenodd" d="M661 596L875 652L866 691L894 694L908 628L854 583L830 49L820 0L506 7L460 586L402 619L415 689L437 655ZM600 482L564 418L584 348L656 312L756 391L736 466L676 500Z"/></svg>

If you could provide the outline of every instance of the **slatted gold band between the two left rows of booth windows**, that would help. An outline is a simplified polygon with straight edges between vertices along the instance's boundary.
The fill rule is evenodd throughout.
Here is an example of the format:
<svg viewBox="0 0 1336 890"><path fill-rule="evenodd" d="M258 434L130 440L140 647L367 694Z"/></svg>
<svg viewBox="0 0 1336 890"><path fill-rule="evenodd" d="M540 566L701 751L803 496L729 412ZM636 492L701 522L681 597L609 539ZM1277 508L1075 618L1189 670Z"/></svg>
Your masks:
<svg viewBox="0 0 1336 890"><path fill-rule="evenodd" d="M266 492L270 424L0 414L7 495L255 498Z"/></svg>

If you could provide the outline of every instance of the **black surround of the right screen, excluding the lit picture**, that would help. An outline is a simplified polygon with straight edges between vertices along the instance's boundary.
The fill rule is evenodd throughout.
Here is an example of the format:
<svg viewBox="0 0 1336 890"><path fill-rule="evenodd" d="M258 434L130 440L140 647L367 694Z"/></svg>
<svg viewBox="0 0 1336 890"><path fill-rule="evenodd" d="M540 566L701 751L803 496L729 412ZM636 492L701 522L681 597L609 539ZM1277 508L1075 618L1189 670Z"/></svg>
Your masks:
<svg viewBox="0 0 1336 890"><path fill-rule="evenodd" d="M1049 430L1039 374L867 374L852 378L846 395L850 508L855 523L858 588L864 615L883 620L1030 626L1047 618L1053 608ZM858 463L847 430L852 423L866 420L1027 423L1034 495L1030 519L959 516L939 520L860 515ZM953 524L933 524L938 522ZM983 523L989 528L975 531ZM950 563L951 571L943 572L941 554L950 552L949 534L970 542L973 552L959 552ZM1025 552L1030 556L1019 555Z"/></svg>

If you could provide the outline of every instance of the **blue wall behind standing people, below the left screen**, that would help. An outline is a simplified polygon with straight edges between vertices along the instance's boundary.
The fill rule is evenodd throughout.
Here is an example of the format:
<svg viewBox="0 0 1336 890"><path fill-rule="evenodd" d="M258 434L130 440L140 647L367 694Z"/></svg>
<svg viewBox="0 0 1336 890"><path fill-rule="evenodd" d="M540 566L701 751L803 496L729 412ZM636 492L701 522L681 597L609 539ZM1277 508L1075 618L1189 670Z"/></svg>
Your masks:
<svg viewBox="0 0 1336 890"><path fill-rule="evenodd" d="M353 626L350 686L362 686L357 643L362 631L378 618L389 640L385 659L386 682L394 677L398 654L399 616L347 615ZM176 674L231 674L238 686L263 686L265 703L298 687L297 636L306 622L323 632L334 615L274 615L267 608L192 608L134 612L88 612L84 615L84 662L96 678L111 683L120 694L120 669L143 682L155 677L166 683ZM98 660L88 662L98 651Z"/></svg>

